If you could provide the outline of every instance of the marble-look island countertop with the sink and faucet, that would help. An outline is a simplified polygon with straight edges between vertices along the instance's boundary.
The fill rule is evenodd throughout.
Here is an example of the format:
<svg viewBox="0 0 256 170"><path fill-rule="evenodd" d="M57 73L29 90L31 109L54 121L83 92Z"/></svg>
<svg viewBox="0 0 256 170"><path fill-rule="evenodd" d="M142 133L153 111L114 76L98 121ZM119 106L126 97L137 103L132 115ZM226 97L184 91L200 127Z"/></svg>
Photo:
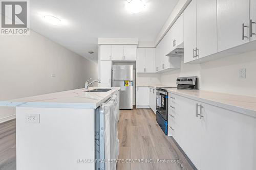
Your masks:
<svg viewBox="0 0 256 170"><path fill-rule="evenodd" d="M103 87L90 87L89 90ZM1 101L4 107L49 107L49 108L88 108L96 109L108 100L120 87L106 87L107 92L86 92L84 88L31 96L9 101Z"/></svg>

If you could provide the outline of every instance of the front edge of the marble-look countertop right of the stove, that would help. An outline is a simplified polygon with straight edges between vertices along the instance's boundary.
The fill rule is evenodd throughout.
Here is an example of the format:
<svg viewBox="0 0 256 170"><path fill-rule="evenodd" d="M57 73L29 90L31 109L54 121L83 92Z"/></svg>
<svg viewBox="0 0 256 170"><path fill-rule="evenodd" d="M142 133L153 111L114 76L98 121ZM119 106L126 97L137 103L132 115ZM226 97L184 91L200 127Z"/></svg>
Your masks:
<svg viewBox="0 0 256 170"><path fill-rule="evenodd" d="M171 93L174 93L174 94L177 94L177 95L181 95L185 98L193 99L193 100L203 102L203 103L206 103L206 104L209 104L209 105L212 105L212 106L217 106L217 107L220 107L220 108L224 108L224 109L227 109L227 110L231 110L233 112L245 114L245 115L256 118L256 111L254 111L254 110L250 110L250 109L239 107L239 106L229 105L229 104L226 104L226 103L216 102L216 101L209 100L209 99L203 99L203 98L199 98L199 97L194 96L194 95L184 94L184 93L180 93L180 92L177 92L177 91L172 91L172 90L167 90L167 91L171 92Z"/></svg>

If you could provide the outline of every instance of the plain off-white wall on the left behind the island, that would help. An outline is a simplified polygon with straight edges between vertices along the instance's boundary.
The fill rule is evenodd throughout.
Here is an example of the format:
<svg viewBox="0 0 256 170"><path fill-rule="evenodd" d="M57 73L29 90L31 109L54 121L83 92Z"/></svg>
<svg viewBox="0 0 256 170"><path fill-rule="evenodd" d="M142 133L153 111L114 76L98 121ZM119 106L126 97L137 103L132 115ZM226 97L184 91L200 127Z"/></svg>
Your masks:
<svg viewBox="0 0 256 170"><path fill-rule="evenodd" d="M82 88L89 77L98 78L97 67L33 31L1 36L0 101ZM0 122L14 113L14 108L0 108Z"/></svg>

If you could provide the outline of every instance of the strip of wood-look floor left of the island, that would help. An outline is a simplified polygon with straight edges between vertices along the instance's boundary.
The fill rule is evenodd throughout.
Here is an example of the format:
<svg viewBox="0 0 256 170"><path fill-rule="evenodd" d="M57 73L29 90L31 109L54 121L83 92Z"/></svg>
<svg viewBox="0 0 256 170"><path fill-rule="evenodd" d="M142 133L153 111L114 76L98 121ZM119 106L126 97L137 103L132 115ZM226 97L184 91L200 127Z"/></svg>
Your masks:
<svg viewBox="0 0 256 170"><path fill-rule="evenodd" d="M15 119L0 124L0 170L16 169Z"/></svg>

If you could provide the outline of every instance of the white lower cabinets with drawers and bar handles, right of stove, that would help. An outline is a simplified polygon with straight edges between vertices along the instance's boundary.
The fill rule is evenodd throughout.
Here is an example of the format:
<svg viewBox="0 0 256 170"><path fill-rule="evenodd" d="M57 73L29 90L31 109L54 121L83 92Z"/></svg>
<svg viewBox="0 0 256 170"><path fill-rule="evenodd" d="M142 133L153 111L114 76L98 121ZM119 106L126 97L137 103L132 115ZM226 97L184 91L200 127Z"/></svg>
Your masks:
<svg viewBox="0 0 256 170"><path fill-rule="evenodd" d="M168 136L197 169L255 169L255 118L177 94L169 99Z"/></svg>

